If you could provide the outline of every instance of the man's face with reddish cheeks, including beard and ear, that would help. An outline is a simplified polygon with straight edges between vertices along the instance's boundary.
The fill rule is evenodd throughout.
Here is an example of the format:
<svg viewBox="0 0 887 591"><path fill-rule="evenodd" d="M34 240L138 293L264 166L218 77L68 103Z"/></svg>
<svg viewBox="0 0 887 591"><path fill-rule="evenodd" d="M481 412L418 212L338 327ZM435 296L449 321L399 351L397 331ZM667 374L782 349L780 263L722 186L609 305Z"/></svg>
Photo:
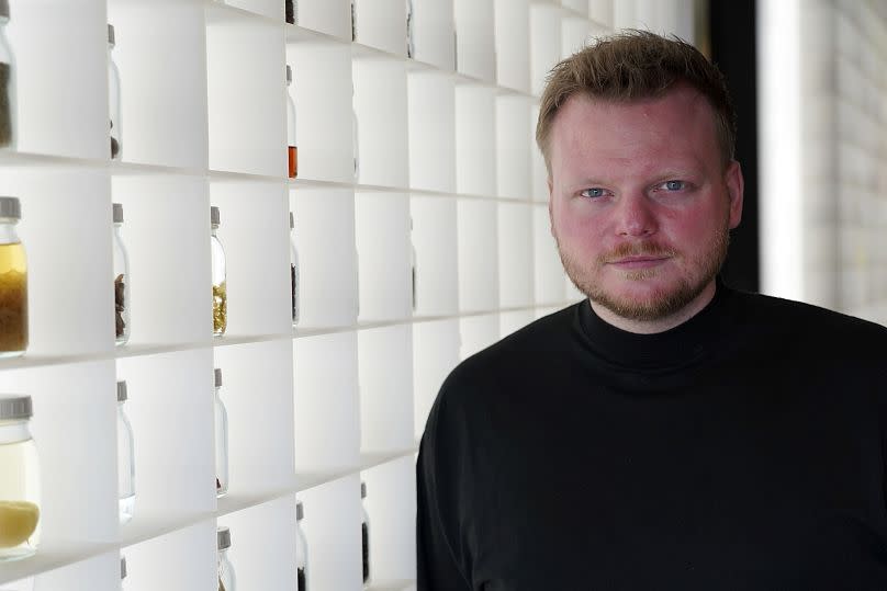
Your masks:
<svg viewBox="0 0 887 591"><path fill-rule="evenodd" d="M630 103L573 95L550 141L551 229L580 291L642 322L710 297L742 214L742 173L737 162L723 169L701 94L680 86Z"/></svg>

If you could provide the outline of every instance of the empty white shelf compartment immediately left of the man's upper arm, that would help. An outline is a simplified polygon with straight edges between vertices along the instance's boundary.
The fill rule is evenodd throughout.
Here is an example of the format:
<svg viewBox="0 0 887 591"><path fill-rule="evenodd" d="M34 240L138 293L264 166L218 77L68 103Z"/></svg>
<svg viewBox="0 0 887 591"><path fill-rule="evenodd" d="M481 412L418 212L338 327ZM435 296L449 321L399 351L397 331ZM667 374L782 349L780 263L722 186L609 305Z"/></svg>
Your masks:
<svg viewBox="0 0 887 591"><path fill-rule="evenodd" d="M413 445L413 330L398 325L358 332L360 448L391 453Z"/></svg>

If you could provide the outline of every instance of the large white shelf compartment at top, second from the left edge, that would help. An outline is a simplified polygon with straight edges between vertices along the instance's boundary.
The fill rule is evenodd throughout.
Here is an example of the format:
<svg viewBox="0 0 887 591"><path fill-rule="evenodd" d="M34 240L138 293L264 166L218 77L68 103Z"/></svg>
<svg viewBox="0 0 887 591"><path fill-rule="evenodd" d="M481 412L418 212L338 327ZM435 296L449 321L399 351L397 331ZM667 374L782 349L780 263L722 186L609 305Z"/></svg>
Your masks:
<svg viewBox="0 0 887 591"><path fill-rule="evenodd" d="M194 34L203 5L110 0L108 19L121 72L122 159L205 170L206 49Z"/></svg>

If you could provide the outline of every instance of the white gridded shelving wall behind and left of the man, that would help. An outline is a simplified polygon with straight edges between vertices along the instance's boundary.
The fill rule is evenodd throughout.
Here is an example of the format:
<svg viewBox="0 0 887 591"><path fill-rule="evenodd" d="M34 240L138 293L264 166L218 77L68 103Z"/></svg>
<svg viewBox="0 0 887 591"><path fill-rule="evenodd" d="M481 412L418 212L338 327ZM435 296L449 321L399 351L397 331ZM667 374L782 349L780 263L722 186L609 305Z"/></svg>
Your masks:
<svg viewBox="0 0 887 591"><path fill-rule="evenodd" d="M299 0L297 25L278 0L10 0L20 138L0 151L0 193L22 202L31 346L0 362L0 391L34 399L44 499L41 549L0 564L0 590L116 590L120 555L130 591L214 590L217 525L231 527L240 589L293 589L296 497L313 588L357 590L361 481L373 589L415 586L415 454L442 379L581 297L549 231L534 141L544 75L616 16L647 10L689 27L690 13L678 10L689 0L673 11L636 0L413 3L408 59L403 0L357 0L353 42L347 0ZM122 78L117 162L108 161L108 22ZM133 277L132 338L117 349L112 202L124 206ZM211 205L228 261L228 330L215 339ZM229 418L222 499L214 367ZM136 442L124 526L116 379L127 380Z"/></svg>

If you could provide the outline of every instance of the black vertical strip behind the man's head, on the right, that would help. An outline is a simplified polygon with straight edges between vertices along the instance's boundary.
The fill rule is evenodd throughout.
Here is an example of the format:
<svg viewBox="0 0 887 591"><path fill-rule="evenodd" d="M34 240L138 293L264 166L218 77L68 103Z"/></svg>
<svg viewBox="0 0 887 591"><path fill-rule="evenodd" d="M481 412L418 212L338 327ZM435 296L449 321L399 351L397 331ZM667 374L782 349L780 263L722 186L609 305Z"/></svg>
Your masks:
<svg viewBox="0 0 887 591"><path fill-rule="evenodd" d="M745 177L742 223L731 234L723 266L728 285L756 292L760 285L757 223L757 60L754 0L708 2L711 60L727 77L739 117L737 160Z"/></svg>

